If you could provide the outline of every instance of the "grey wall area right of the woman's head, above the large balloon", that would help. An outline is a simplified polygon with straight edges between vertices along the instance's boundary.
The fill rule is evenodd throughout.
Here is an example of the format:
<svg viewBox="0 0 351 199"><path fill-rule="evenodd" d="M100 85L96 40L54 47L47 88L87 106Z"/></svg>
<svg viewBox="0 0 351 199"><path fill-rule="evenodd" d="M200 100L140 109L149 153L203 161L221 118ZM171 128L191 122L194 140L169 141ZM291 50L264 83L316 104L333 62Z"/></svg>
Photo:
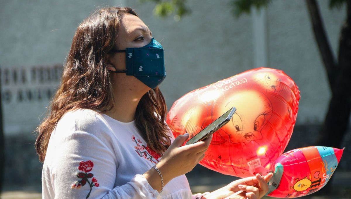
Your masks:
<svg viewBox="0 0 351 199"><path fill-rule="evenodd" d="M127 2L162 40L168 76L161 88L168 106L188 91L267 66L285 71L299 86L297 125L324 120L330 89L304 1L272 1L264 10L266 30L254 26L260 22L257 16L232 16L229 0L188 1L192 14L179 22L155 18L153 4ZM345 10L330 11L328 0L318 2L336 54ZM266 57L261 61L255 60L255 49L264 49L255 42L256 31L266 34Z"/></svg>

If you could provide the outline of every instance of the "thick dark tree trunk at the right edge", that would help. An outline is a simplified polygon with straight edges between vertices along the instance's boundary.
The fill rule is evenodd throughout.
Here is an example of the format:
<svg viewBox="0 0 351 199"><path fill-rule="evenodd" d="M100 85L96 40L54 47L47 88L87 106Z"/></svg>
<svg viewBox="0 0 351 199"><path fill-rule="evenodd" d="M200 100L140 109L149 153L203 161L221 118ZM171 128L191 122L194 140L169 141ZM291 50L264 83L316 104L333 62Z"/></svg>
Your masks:
<svg viewBox="0 0 351 199"><path fill-rule="evenodd" d="M351 113L351 1L346 1L346 20L339 39L338 71L323 126L319 146L341 147ZM330 185L329 185L330 186Z"/></svg>

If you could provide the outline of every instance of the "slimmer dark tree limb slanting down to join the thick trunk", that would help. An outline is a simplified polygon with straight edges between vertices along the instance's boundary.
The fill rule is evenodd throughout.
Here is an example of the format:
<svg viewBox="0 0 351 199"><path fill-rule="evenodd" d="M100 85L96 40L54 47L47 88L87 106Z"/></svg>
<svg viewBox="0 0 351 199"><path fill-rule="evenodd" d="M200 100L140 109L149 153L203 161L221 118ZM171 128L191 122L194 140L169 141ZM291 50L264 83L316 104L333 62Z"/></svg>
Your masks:
<svg viewBox="0 0 351 199"><path fill-rule="evenodd" d="M333 92L336 75L339 71L338 64L332 53L329 40L327 39L316 0L306 0L306 4L312 21L314 37L317 41L319 52L322 55L324 67L328 75L330 88Z"/></svg>

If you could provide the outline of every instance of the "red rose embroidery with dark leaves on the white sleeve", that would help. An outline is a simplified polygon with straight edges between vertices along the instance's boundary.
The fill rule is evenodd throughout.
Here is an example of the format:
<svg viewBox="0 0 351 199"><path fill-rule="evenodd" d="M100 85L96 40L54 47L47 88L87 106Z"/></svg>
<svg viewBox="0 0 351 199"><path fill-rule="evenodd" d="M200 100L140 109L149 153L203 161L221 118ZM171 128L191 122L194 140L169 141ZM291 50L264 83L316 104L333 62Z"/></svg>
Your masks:
<svg viewBox="0 0 351 199"><path fill-rule="evenodd" d="M72 185L72 188L77 188L77 189L79 189L79 188L81 188L82 186L86 185L86 183L88 183L88 185L90 186L90 191L89 191L89 193L88 193L86 199L89 198L93 186L99 187L99 183L97 183L98 180L97 180L95 177L93 178L94 174L88 173L88 172L90 172L91 170L93 170L93 167L94 167L94 163L93 163L92 161L90 161L90 160L88 160L88 161L86 161L86 162L85 162L85 161L79 162L78 170L79 170L79 171L83 171L83 172L85 172L85 173L83 173L83 172L77 173L77 178L79 178L79 179L81 179L81 180L76 181L76 182ZM88 178L93 178L93 179L92 179L91 182L90 182Z"/></svg>

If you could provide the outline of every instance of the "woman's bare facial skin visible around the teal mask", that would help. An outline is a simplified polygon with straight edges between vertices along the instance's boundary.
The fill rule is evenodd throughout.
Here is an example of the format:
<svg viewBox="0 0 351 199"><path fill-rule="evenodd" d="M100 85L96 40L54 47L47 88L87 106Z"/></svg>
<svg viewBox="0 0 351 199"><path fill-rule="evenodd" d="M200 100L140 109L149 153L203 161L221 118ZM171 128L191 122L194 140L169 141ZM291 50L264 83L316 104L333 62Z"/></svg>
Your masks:
<svg viewBox="0 0 351 199"><path fill-rule="evenodd" d="M120 21L120 27L115 41L115 48L117 50L124 50L126 48L143 47L150 43L152 33L150 29L137 16L126 13L123 14ZM126 69L125 53L113 53L107 57L107 69L112 71L122 71ZM112 73L112 81L116 85L127 87L129 90L148 91L150 88L144 85L134 76L127 76L126 73ZM137 89L138 88L138 89Z"/></svg>

